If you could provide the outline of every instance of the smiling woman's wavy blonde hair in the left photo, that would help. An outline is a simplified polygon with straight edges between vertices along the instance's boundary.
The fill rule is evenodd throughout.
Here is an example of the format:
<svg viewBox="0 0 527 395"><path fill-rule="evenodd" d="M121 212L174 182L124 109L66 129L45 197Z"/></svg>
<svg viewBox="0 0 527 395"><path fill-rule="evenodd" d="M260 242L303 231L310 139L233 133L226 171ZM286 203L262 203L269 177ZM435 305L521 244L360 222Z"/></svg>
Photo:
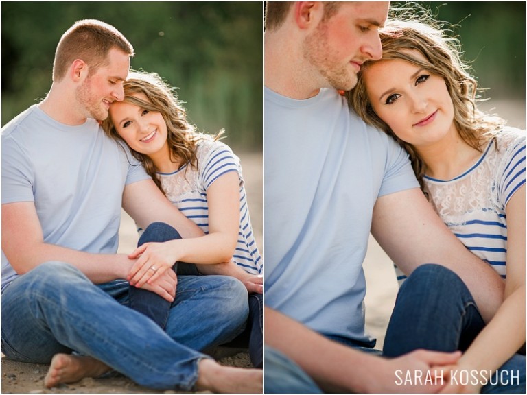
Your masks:
<svg viewBox="0 0 527 395"><path fill-rule="evenodd" d="M187 121L187 111L183 108L183 103L179 101L174 88L169 86L156 73L147 73L145 71L130 71L128 80L124 82L124 102L134 104L144 110L161 112L165 123L167 124L167 142L170 151L170 157L174 162L179 162L179 169L186 164L197 168L198 159L196 158L196 144L202 139L218 140L223 134L221 130L216 136L209 136L197 132L196 127ZM148 101L134 97L137 93L143 93ZM102 123L102 128L108 136L117 141L126 142L119 136L115 126L108 117ZM152 177L157 187L163 191L161 181L157 176L156 167L147 155L134 151L130 148L132 155L142 163L146 172ZM163 191L165 193L165 191Z"/></svg>

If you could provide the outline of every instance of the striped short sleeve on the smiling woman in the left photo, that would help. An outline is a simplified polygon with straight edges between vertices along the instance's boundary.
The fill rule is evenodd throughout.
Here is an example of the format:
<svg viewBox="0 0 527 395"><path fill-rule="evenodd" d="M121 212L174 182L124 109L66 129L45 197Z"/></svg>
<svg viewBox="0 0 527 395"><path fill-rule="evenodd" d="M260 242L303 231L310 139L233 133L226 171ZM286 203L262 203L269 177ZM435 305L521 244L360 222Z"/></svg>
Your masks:
<svg viewBox="0 0 527 395"><path fill-rule="evenodd" d="M242 185L242 171L239 169L239 158L235 156L231 148L224 143L215 143L216 147L212 150L204 163L201 173L202 185L207 190L215 180L218 180L225 173L236 171Z"/></svg>

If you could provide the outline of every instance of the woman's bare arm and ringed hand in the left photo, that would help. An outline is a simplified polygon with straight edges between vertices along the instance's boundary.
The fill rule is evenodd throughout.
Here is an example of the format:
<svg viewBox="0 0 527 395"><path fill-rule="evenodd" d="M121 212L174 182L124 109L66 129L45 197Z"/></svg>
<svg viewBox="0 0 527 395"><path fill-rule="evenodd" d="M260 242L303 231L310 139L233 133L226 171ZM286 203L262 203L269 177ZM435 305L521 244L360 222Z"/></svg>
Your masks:
<svg viewBox="0 0 527 395"><path fill-rule="evenodd" d="M154 281L176 261L213 265L230 261L239 232L239 176L235 171L223 174L207 189L209 234L165 243L145 243L130 254L137 263L128 274L130 284L141 287ZM150 276L148 269L156 267Z"/></svg>

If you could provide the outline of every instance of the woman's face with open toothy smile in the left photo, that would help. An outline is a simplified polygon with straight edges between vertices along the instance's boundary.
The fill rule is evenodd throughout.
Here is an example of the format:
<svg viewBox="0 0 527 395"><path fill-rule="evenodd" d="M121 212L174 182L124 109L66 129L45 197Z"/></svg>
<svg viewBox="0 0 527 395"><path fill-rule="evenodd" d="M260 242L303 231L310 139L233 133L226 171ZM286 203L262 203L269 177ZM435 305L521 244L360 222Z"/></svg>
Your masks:
<svg viewBox="0 0 527 395"><path fill-rule="evenodd" d="M144 93L132 95L148 101ZM167 124L161 112L148 111L135 104L115 101L110 106L115 130L134 151L154 156L167 147Z"/></svg>

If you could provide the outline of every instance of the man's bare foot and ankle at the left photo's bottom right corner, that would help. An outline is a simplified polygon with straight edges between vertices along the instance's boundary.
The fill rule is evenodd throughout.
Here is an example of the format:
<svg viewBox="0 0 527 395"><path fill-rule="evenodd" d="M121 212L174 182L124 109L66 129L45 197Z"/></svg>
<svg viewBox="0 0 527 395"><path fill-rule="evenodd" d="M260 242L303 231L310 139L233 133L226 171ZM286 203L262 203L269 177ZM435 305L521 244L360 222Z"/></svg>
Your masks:
<svg viewBox="0 0 527 395"><path fill-rule="evenodd" d="M264 373L261 369L233 368L202 359L196 387L220 394L262 394Z"/></svg>

